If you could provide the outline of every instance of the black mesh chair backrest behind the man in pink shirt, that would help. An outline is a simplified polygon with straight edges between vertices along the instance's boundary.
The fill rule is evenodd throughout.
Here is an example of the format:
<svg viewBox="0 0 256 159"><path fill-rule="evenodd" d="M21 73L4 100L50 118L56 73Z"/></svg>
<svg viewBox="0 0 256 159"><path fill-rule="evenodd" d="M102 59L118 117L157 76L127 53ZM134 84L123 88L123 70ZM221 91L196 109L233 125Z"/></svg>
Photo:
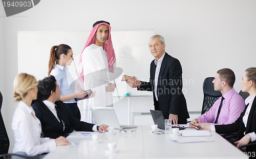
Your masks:
<svg viewBox="0 0 256 159"><path fill-rule="evenodd" d="M201 115L205 113L205 111L208 111L210 107L214 105L215 101L222 96L220 91L214 90L214 83L212 83L213 80L214 80L214 77L207 77L204 80L204 83L203 83L204 99L203 99Z"/></svg>

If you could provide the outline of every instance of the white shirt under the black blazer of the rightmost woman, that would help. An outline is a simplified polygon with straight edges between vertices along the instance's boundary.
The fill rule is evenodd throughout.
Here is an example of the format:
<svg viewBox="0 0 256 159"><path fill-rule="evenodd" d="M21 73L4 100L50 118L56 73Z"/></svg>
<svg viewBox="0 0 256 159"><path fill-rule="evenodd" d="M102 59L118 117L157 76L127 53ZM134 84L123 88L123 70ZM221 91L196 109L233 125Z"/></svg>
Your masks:
<svg viewBox="0 0 256 159"><path fill-rule="evenodd" d="M246 111L245 111L245 115L243 116L243 123L244 123L244 126L245 126L245 127L246 127L246 125L247 125L249 113L250 113L250 110L251 110L251 105L252 105L252 102L253 102L255 96L256 96L256 94L253 95L252 97L249 96L249 97L247 97L247 98L245 99L245 104L246 104L246 105L249 104L248 107L247 107L247 109L246 109ZM211 129L211 131L216 131L214 125L211 125L211 126L210 126L210 129ZM248 134L249 134L250 137L251 137L251 142L256 141L256 134L255 134L255 132L250 132L250 133L248 133ZM244 135L245 135L245 132L244 132Z"/></svg>

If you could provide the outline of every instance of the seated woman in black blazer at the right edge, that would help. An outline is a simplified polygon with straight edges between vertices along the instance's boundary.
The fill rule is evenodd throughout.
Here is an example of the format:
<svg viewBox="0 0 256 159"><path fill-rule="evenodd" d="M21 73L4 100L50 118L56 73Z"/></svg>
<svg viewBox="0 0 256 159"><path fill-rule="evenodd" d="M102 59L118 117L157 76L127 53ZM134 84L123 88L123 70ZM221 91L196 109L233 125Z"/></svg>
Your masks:
<svg viewBox="0 0 256 159"><path fill-rule="evenodd" d="M248 92L250 96L245 99L246 107L237 121L227 125L215 125L214 127L206 123L197 124L201 126L202 130L214 131L215 129L218 133L239 131L239 140L234 142L234 144L237 144L237 147L256 142L256 68L251 67L247 69L240 83L242 84L242 92ZM256 155L256 145L248 148L244 147L242 150Z"/></svg>

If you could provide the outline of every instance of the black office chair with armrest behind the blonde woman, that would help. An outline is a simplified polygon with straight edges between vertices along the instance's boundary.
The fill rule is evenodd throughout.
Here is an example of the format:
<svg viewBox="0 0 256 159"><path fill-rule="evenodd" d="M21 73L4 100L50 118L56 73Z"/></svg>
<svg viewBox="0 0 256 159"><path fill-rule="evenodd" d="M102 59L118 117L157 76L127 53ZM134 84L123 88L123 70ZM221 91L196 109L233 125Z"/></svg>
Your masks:
<svg viewBox="0 0 256 159"><path fill-rule="evenodd" d="M5 124L2 118L2 113L1 113L2 103L3 103L3 96L0 92L0 159L6 158L7 156L12 156L12 155L29 158L29 159L38 159L37 157L33 157L33 156L24 156L20 154L8 153L10 142L9 142L9 138L5 129Z"/></svg>

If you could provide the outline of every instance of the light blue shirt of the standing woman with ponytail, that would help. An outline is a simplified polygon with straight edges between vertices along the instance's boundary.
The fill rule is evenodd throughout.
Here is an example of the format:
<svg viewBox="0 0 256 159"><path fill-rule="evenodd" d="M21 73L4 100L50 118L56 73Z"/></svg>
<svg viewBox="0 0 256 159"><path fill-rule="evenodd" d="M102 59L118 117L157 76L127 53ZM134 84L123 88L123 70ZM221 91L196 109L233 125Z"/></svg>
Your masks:
<svg viewBox="0 0 256 159"><path fill-rule="evenodd" d="M66 70L66 67L55 64L55 68L51 71L50 75L54 76L56 79L56 82L59 85L59 89L61 90L60 95L70 95L74 94L75 91L70 89L69 79L73 79L70 73ZM73 79L74 81L74 79ZM71 81L70 83L72 83ZM65 101L64 103L77 103L75 99L71 99L69 101Z"/></svg>

